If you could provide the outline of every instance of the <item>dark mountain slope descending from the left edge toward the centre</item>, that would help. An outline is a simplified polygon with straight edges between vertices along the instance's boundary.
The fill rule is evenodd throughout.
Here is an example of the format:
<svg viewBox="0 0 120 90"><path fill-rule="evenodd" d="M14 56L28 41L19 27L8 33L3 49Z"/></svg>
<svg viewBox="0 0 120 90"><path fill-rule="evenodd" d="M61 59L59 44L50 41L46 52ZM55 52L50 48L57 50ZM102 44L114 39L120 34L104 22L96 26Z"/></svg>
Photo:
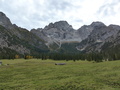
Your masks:
<svg viewBox="0 0 120 90"><path fill-rule="evenodd" d="M0 12L0 49L0 54L11 50L22 55L48 51L43 40L28 30L13 25L2 12Z"/></svg>

